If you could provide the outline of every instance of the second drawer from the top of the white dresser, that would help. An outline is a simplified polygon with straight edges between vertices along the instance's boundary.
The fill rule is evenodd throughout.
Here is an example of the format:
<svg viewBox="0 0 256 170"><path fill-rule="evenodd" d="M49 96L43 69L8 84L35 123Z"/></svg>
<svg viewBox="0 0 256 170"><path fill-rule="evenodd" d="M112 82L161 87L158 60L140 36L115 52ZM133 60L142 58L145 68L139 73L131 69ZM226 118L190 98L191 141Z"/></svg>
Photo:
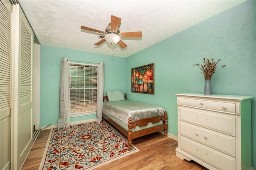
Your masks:
<svg viewBox="0 0 256 170"><path fill-rule="evenodd" d="M180 106L180 120L236 136L236 117Z"/></svg>

